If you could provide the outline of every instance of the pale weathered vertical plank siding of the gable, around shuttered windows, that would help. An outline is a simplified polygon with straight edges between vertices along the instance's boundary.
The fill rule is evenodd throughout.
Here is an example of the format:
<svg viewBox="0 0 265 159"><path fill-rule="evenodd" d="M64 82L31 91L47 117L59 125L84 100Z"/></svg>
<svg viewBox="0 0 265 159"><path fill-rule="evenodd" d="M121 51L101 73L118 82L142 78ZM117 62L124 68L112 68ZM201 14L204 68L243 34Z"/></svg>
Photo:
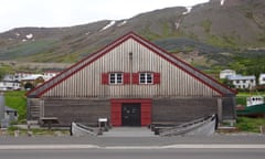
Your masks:
<svg viewBox="0 0 265 159"><path fill-rule="evenodd" d="M132 60L129 53L132 53ZM102 74L109 72L156 72L160 84L103 85ZM176 67L134 39L97 59L43 94L44 97L179 97L220 96L211 87Z"/></svg>

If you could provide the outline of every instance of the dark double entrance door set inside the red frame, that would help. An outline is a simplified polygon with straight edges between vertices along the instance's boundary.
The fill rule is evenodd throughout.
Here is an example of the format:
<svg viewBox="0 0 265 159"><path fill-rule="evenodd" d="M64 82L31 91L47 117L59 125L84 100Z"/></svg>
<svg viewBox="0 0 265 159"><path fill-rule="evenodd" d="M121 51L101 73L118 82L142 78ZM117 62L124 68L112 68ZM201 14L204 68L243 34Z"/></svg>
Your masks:
<svg viewBox="0 0 265 159"><path fill-rule="evenodd" d="M121 107L123 126L141 126L140 103L125 103Z"/></svg>

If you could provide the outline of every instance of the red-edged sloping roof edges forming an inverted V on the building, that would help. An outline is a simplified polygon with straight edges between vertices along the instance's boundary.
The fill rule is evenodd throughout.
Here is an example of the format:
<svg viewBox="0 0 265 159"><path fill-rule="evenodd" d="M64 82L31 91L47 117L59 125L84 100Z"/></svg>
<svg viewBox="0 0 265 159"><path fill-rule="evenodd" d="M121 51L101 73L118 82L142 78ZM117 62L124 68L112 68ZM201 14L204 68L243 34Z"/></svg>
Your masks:
<svg viewBox="0 0 265 159"><path fill-rule="evenodd" d="M74 64L73 66L68 67L67 70L63 71L61 74L56 75L55 77L51 78L50 81L45 82L41 86L32 89L26 94L28 97L40 97L49 89L53 88L57 84L62 83L66 78L71 77L76 72L81 71L85 66L89 65L104 54L108 53L114 47L118 46L123 42L127 41L128 39L134 39L141 45L146 46L147 49L151 50L153 53L157 53L159 56L163 57L168 62L172 63L173 65L178 66L182 71L187 72L189 75L193 76L201 83L205 84L206 86L211 87L222 96L234 95L235 93L227 88L226 86L222 85L218 81L213 80L212 77L205 75L204 73L200 72L199 70L192 67L188 63L183 62L182 60L169 54L167 51L158 47L157 45L150 43L149 41L142 39L141 36L135 34L134 32L129 32L124 36L117 39L109 45L103 47L102 50L88 55L84 60L80 61L78 63Z"/></svg>

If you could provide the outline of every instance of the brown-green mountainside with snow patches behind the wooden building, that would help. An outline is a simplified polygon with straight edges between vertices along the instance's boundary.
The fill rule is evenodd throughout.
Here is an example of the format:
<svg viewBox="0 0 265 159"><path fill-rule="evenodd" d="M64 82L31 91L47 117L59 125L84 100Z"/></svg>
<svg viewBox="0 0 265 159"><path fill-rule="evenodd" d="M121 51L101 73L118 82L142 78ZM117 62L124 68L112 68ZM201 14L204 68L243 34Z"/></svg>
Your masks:
<svg viewBox="0 0 265 159"><path fill-rule="evenodd" d="M134 31L200 70L261 71L264 65L252 64L265 54L264 8L264 0L211 0L190 11L172 7L126 20L13 29L0 33L0 61L75 63Z"/></svg>

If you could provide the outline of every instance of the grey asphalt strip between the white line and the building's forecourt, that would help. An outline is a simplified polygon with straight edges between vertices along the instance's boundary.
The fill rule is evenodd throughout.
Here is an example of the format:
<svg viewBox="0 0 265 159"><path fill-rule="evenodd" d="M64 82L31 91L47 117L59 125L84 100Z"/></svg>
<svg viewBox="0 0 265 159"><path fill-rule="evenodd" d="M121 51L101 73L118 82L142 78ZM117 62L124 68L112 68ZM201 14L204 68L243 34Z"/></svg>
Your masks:
<svg viewBox="0 0 265 159"><path fill-rule="evenodd" d="M190 136L190 137L1 137L1 145L96 145L106 146L168 146L187 145L265 145L264 135Z"/></svg>

